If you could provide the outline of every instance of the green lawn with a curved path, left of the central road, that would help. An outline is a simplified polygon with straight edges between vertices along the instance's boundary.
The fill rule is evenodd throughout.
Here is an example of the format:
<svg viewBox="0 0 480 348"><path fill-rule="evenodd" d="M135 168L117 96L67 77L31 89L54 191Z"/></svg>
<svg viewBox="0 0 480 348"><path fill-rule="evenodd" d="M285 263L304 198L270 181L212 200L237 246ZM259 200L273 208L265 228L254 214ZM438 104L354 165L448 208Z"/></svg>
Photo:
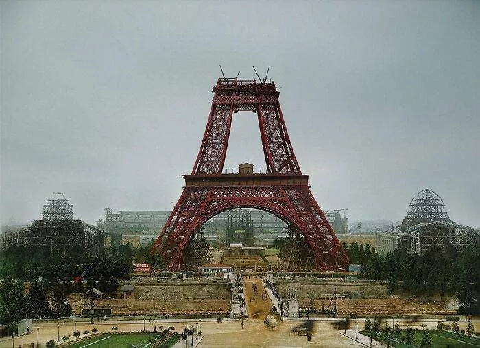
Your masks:
<svg viewBox="0 0 480 348"><path fill-rule="evenodd" d="M150 346L149 340L156 338L159 334L102 334L93 338L82 340L81 342L72 342L67 347L71 348L132 348L132 345L140 348Z"/></svg>

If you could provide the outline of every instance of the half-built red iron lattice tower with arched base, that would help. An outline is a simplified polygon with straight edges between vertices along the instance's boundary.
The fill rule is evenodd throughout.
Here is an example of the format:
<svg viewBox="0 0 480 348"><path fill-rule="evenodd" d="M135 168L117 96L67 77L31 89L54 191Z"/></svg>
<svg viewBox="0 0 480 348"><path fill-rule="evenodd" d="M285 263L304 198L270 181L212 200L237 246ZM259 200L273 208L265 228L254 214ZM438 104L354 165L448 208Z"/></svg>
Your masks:
<svg viewBox="0 0 480 348"><path fill-rule="evenodd" d="M315 258L317 269L338 269L348 264L332 227L313 197L308 175L302 175L283 120L276 85L254 80L220 78L200 151L191 175L152 247L169 270L182 268L184 251L195 231L213 216L232 208L256 208L283 219L301 233ZM265 174L222 174L232 116L256 112Z"/></svg>

